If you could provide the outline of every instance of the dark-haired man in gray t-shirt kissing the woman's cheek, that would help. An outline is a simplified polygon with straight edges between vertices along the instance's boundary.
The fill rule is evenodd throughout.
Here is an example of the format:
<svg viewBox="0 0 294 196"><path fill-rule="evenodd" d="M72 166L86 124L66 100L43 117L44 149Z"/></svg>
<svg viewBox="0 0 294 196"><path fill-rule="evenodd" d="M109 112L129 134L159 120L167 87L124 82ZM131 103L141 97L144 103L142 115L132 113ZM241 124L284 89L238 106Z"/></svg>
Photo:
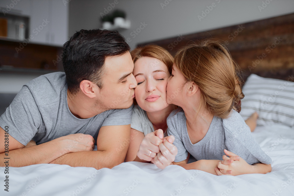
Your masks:
<svg viewBox="0 0 294 196"><path fill-rule="evenodd" d="M76 32L64 44L65 73L24 85L0 117L0 159L9 157L11 167L56 163L100 169L122 163L137 86L129 50L116 31ZM38 145L27 145L31 140Z"/></svg>

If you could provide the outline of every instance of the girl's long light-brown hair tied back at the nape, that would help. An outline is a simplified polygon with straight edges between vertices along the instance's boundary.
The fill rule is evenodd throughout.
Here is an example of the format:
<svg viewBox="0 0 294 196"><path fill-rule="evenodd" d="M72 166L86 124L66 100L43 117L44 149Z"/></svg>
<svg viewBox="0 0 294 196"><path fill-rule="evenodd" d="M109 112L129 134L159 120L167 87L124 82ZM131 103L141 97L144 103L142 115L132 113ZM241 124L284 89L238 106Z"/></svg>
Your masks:
<svg viewBox="0 0 294 196"><path fill-rule="evenodd" d="M199 87L200 107L205 106L220 118L227 118L232 109L240 112L244 94L238 65L220 41L207 40L184 46L175 56L175 65L187 82Z"/></svg>

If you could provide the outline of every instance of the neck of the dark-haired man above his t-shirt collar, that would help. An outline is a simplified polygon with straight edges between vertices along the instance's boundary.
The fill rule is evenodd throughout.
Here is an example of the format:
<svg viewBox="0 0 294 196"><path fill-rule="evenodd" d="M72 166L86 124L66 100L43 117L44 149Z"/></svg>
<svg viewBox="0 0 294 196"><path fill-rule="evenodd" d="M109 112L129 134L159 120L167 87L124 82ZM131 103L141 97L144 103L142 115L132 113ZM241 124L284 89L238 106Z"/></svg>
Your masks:
<svg viewBox="0 0 294 196"><path fill-rule="evenodd" d="M101 111L97 110L99 107L97 104L93 103L93 99L81 92L73 95L69 90L67 90L67 104L71 113L81 119L91 118L105 111L102 109Z"/></svg>

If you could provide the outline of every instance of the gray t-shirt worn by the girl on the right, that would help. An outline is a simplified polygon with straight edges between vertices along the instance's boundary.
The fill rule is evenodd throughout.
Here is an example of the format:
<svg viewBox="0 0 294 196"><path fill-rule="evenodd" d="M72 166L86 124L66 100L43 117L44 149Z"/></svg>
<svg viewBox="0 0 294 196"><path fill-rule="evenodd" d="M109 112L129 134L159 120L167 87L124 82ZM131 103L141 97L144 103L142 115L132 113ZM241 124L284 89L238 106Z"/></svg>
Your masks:
<svg viewBox="0 0 294 196"><path fill-rule="evenodd" d="M186 116L181 108L168 116L167 125L168 135L175 136L173 144L178 148L175 162L186 160L188 153L196 160L223 160L224 149L240 156L250 165L272 162L253 138L250 128L241 115L235 110L226 119L214 116L206 135L196 144L191 143Z"/></svg>

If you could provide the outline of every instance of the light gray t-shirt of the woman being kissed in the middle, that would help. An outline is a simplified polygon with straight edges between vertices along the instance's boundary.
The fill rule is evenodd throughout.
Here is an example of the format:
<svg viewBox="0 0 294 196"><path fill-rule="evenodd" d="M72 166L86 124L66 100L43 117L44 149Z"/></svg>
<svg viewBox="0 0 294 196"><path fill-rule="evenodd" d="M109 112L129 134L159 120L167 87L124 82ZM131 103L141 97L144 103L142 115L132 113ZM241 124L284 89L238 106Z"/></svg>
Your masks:
<svg viewBox="0 0 294 196"><path fill-rule="evenodd" d="M146 111L140 108L139 105L134 105L131 128L144 133L144 136L154 132L153 124L149 120ZM163 136L167 136L167 131Z"/></svg>

